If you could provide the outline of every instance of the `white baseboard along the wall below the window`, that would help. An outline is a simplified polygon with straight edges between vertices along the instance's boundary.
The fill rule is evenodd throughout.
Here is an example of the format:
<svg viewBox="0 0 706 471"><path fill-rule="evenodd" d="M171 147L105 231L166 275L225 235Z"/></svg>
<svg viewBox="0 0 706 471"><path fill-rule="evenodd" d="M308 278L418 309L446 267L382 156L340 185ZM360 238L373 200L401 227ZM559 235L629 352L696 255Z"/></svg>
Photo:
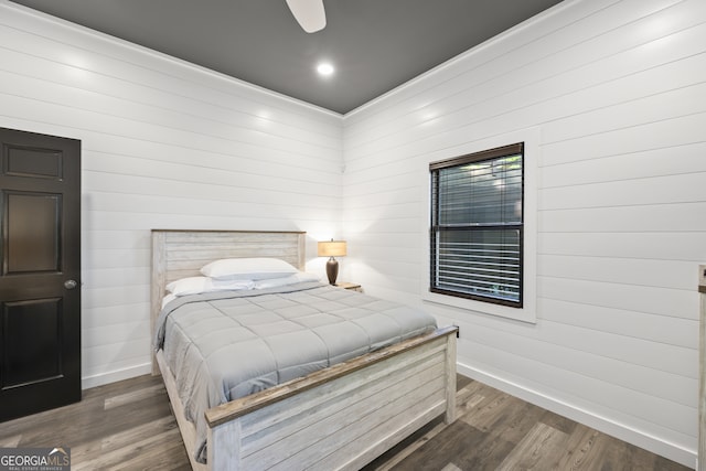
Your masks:
<svg viewBox="0 0 706 471"><path fill-rule="evenodd" d="M570 404L461 363L457 364L457 371L472 379L480 381L481 383L504 393L511 394L547 410L552 410L555 414L559 414L579 424L595 428L596 430L660 454L672 461L676 461L680 464L689 468L695 467L697 459L696 450L688 450L674 443L666 442L656 437L641 432L640 430L635 430L606 417L597 416L596 414L577 408Z"/></svg>

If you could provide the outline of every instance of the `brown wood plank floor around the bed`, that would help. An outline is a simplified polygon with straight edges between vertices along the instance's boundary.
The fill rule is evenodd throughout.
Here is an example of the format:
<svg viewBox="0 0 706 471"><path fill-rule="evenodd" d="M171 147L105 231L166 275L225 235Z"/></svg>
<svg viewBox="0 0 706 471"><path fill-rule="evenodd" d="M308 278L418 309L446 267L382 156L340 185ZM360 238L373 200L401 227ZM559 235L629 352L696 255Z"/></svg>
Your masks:
<svg viewBox="0 0 706 471"><path fill-rule="evenodd" d="M688 469L462 376L458 408L454 424L429 424L365 471ZM0 447L58 446L71 448L72 471L190 469L159 377L0 424Z"/></svg>

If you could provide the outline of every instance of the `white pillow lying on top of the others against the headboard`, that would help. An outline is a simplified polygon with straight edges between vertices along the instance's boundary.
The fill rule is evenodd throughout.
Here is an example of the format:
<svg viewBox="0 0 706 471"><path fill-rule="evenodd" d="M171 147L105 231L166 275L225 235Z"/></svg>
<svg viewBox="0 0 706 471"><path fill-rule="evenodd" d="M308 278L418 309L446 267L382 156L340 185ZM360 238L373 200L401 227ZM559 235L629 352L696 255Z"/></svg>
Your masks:
<svg viewBox="0 0 706 471"><path fill-rule="evenodd" d="M279 258L223 258L204 266L201 274L215 279L264 280L299 271Z"/></svg>

